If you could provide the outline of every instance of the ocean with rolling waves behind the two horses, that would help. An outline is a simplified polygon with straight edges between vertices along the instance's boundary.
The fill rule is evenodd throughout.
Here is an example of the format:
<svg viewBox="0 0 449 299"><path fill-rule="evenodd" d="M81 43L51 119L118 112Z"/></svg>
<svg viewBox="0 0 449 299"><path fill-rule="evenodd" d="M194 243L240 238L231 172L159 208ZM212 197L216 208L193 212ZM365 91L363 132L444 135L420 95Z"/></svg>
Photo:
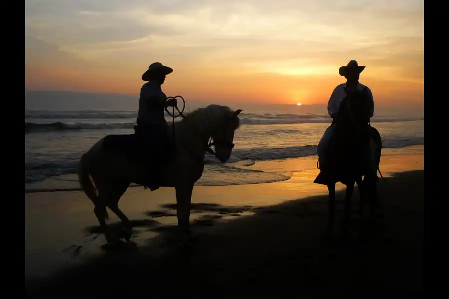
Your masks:
<svg viewBox="0 0 449 299"><path fill-rule="evenodd" d="M82 153L108 134L131 134L135 111L25 111L25 192L78 188L76 168ZM167 121L172 119L167 116ZM205 156L198 185L257 184L288 179L287 173L247 167L261 160L280 160L316 154L330 125L327 114L249 111L240 114L231 158L225 164ZM384 148L424 145L424 118L375 116L372 126Z"/></svg>

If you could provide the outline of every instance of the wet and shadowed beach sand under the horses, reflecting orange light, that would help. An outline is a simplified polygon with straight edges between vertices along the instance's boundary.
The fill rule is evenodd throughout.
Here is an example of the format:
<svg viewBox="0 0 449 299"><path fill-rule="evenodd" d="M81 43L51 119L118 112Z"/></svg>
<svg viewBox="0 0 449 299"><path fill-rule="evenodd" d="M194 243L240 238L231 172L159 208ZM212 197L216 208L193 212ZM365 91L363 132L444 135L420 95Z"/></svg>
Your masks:
<svg viewBox="0 0 449 299"><path fill-rule="evenodd" d="M134 236L113 248L103 246L104 235L84 193L26 193L26 295L422 294L424 147L383 150L380 168L386 180L379 183L380 206L373 218L358 215L356 190L345 240L339 238L341 184L335 238L323 238L327 188L313 184L319 171L316 157L249 167L291 178L196 186L191 223L198 240L188 252L170 239L176 225L173 189L150 193L129 188L120 208L133 222ZM110 215L109 224L117 228L117 217Z"/></svg>

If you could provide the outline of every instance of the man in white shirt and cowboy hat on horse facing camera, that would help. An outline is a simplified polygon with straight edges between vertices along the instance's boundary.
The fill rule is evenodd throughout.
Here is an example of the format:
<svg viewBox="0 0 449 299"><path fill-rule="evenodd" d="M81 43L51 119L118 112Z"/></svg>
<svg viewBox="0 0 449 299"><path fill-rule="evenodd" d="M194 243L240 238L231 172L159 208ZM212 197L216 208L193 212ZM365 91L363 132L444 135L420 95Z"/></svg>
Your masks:
<svg viewBox="0 0 449 299"><path fill-rule="evenodd" d="M326 151L329 146L329 142L333 135L335 129L335 121L338 118L338 110L340 109L341 102L346 97L346 91L362 91L366 88L367 96L370 98L369 100L372 102L370 115L372 118L374 115L374 100L373 94L369 87L359 83L360 73L365 69L365 66L359 66L357 61L351 60L346 66L342 66L339 69L340 76L344 76L346 78L346 83L342 83L335 87L332 95L329 99L329 103L327 105L327 111L329 116L332 118L332 125L324 132L323 137L318 143L317 151L318 158L320 161L320 168L326 164ZM374 158L373 153L370 147L370 144L367 144L365 148L365 154L368 158L368 167L371 169L374 167Z"/></svg>

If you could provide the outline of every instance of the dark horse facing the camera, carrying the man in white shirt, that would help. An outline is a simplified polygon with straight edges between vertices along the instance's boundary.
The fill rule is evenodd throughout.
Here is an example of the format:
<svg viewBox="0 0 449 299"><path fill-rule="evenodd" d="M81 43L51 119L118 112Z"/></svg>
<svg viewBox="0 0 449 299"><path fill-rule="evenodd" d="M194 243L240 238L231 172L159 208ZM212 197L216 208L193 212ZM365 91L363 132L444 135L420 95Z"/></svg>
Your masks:
<svg viewBox="0 0 449 299"><path fill-rule="evenodd" d="M377 199L377 170L379 168L382 140L379 132L370 125L370 98L367 88L362 91L345 90L346 97L340 105L338 117L333 120L333 134L326 150L326 164L320 168L315 183L327 185L329 190L329 215L327 231L333 230L335 215L335 184L346 185L344 234L349 227L351 197L357 183L360 192L360 209L367 199L373 211ZM367 149L371 149L373 165L369 167ZM362 176L365 176L362 180Z"/></svg>

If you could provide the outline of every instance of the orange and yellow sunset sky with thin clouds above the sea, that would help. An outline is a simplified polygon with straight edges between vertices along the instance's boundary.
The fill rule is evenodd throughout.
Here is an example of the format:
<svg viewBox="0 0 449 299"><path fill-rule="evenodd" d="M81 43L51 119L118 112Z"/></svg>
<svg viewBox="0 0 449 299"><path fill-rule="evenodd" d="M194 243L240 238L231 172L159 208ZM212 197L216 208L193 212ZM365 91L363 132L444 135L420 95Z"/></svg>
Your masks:
<svg viewBox="0 0 449 299"><path fill-rule="evenodd" d="M325 104L366 65L377 105L424 103L424 0L25 0L25 88Z"/></svg>

